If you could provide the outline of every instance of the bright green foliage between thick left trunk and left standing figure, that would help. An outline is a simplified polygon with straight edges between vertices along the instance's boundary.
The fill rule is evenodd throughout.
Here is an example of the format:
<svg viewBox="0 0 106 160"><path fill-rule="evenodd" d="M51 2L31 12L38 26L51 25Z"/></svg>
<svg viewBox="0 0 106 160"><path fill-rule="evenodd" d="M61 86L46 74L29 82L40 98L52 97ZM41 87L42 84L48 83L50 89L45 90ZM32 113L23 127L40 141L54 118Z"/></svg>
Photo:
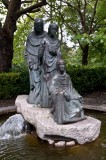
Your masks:
<svg viewBox="0 0 106 160"><path fill-rule="evenodd" d="M33 21L28 17L19 21L18 29L14 35L14 57L12 64L13 66L21 67L25 65L24 51L25 51L25 42L29 30L33 27Z"/></svg>

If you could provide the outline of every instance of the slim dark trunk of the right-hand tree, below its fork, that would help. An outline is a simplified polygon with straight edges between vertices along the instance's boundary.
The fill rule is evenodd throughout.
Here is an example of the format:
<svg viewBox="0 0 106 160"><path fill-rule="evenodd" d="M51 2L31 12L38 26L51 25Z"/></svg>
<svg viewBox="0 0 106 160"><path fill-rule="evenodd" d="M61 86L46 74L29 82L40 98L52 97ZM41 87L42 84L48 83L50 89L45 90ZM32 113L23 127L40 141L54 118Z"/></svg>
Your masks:
<svg viewBox="0 0 106 160"><path fill-rule="evenodd" d="M82 48L82 65L86 66L88 64L88 50L89 50L89 44L86 44Z"/></svg>

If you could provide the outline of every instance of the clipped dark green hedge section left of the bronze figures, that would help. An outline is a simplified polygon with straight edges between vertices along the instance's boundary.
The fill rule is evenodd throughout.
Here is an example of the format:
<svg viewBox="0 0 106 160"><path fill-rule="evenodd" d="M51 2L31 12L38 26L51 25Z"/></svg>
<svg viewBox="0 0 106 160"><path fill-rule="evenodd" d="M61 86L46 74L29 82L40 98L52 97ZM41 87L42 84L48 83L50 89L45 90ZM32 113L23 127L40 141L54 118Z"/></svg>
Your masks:
<svg viewBox="0 0 106 160"><path fill-rule="evenodd" d="M0 73L0 99L14 98L19 94L28 94L28 72Z"/></svg>

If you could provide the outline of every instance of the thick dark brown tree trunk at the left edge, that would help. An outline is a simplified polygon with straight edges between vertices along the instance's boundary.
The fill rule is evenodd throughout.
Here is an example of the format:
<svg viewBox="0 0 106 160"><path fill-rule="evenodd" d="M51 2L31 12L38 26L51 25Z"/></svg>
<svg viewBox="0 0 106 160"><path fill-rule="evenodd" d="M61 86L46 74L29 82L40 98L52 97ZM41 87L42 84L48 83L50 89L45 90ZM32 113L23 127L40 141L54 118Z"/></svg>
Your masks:
<svg viewBox="0 0 106 160"><path fill-rule="evenodd" d="M16 11L20 5L21 0L9 2L5 23L0 27L0 72L7 72L12 68L13 39L18 19Z"/></svg>

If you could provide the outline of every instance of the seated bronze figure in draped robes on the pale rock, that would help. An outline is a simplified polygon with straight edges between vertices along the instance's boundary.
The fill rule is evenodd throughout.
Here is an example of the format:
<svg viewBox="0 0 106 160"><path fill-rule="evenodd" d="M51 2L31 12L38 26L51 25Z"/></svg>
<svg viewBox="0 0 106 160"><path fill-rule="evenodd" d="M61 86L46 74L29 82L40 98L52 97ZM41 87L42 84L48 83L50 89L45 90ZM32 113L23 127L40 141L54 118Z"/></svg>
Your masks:
<svg viewBox="0 0 106 160"><path fill-rule="evenodd" d="M70 76L65 72L63 60L57 64L57 73L49 86L50 104L54 120L67 124L86 119L82 107L82 97L73 88Z"/></svg>

